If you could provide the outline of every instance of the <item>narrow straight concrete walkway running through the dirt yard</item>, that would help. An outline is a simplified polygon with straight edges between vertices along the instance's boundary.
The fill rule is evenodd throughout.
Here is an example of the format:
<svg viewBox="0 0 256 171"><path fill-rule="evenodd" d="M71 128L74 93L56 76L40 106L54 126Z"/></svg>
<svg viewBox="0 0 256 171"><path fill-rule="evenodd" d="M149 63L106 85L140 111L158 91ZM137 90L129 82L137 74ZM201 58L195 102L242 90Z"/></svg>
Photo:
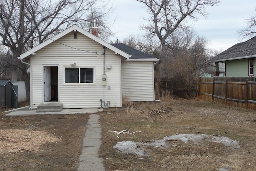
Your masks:
<svg viewBox="0 0 256 171"><path fill-rule="evenodd" d="M86 125L78 171L104 171L103 159L98 157L101 145L100 115L91 114Z"/></svg>

